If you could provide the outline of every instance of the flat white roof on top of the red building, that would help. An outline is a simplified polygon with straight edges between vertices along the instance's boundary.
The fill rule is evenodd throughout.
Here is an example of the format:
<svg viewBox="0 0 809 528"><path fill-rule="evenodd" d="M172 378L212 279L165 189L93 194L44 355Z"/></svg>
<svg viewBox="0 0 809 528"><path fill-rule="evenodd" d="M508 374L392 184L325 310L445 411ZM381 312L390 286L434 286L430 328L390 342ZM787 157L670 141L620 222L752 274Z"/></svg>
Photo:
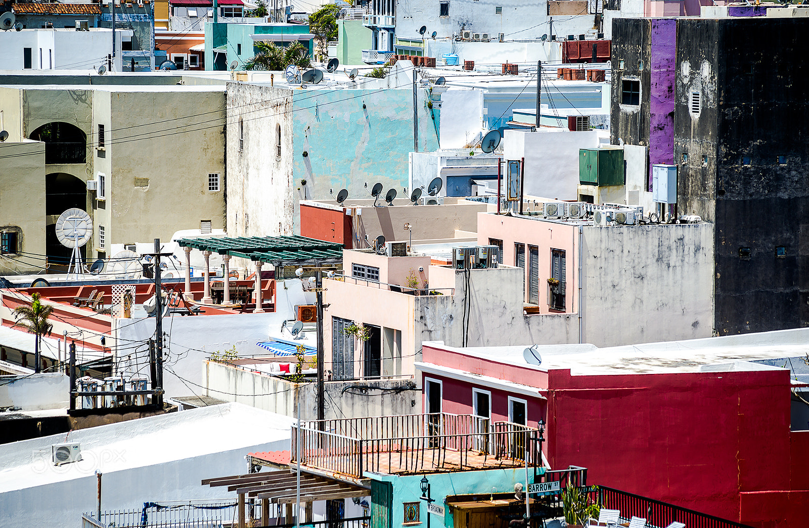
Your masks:
<svg viewBox="0 0 809 528"><path fill-rule="evenodd" d="M430 344L424 343L427 346ZM772 368L769 365L746 362L806 357L809 353L809 328L608 348L599 348L595 344L547 344L535 348L542 358L540 365L529 364L523 357L523 351L530 344L477 348L452 348L441 342L433 345L472 357L545 372L570 369L570 374L574 376L769 370Z"/></svg>

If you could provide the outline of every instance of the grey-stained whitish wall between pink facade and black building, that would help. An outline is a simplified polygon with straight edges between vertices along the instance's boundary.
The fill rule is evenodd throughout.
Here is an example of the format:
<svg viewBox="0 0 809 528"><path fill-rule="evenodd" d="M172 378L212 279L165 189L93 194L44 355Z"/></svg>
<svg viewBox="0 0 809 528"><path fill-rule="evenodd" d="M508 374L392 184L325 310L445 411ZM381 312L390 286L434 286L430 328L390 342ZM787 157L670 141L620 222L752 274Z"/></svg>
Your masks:
<svg viewBox="0 0 809 528"><path fill-rule="evenodd" d="M714 226L583 228L583 342L599 347L711 336Z"/></svg>

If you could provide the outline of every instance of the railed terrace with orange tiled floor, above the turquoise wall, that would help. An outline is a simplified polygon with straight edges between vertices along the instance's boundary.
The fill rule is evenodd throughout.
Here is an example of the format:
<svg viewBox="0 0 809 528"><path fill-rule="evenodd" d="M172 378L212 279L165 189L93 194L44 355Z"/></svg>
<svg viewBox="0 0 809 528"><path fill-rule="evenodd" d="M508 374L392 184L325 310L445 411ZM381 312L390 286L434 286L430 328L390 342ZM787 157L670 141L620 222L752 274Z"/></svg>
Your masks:
<svg viewBox="0 0 809 528"><path fill-rule="evenodd" d="M292 460L298 460L297 426ZM540 465L536 429L510 422L482 424L446 412L308 421L301 425L303 465L362 479L365 471L402 474ZM529 446L527 448L527 446Z"/></svg>

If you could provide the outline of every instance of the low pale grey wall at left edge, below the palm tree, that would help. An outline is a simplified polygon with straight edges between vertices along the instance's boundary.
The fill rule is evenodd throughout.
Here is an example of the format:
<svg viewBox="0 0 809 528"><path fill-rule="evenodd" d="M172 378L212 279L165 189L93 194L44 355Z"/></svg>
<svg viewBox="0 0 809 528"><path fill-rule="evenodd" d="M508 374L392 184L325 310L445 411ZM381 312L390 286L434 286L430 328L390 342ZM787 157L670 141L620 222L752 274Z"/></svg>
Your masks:
<svg viewBox="0 0 809 528"><path fill-rule="evenodd" d="M2 377L0 408L13 407L23 411L67 408L70 378L65 374L33 374L11 381L13 378Z"/></svg>

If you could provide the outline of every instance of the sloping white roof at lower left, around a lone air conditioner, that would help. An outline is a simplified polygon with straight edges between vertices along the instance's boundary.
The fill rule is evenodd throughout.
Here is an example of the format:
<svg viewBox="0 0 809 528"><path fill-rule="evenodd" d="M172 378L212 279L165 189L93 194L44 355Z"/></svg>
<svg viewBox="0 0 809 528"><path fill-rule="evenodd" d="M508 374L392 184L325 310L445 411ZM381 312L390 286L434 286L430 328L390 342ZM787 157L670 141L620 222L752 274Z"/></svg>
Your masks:
<svg viewBox="0 0 809 528"><path fill-rule="evenodd" d="M288 441L293 421L241 403L225 403L17 441L3 446L0 494L82 479L96 470L110 474ZM51 446L66 442L81 444L83 460L54 466Z"/></svg>

